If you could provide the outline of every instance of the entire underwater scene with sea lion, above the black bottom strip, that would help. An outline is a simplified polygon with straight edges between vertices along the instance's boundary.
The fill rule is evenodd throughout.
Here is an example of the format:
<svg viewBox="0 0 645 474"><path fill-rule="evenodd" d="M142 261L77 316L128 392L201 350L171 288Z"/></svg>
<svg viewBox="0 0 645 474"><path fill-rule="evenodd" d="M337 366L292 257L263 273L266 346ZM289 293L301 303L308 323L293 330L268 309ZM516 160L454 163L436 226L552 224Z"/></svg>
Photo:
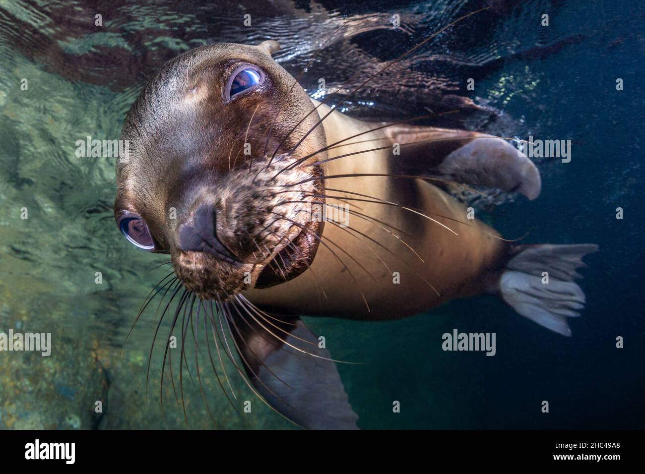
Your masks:
<svg viewBox="0 0 645 474"><path fill-rule="evenodd" d="M0 0L0 428L643 428L644 26Z"/></svg>

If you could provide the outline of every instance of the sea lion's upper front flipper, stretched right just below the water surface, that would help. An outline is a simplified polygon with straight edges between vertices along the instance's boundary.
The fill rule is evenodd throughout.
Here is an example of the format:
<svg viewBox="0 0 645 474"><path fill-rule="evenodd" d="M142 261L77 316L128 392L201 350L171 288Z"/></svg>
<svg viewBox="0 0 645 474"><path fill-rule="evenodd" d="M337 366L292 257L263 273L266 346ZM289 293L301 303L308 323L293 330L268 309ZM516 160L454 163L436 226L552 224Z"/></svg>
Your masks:
<svg viewBox="0 0 645 474"><path fill-rule="evenodd" d="M485 133L396 125L384 129L401 146L393 172L519 192L535 199L542 187L535 164L510 143Z"/></svg>

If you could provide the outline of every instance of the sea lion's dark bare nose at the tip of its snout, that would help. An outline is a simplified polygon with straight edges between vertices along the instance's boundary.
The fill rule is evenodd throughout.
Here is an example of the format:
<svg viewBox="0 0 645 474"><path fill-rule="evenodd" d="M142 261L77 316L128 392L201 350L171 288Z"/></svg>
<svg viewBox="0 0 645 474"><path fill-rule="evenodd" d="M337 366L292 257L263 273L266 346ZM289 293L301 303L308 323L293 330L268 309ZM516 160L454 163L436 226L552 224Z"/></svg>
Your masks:
<svg viewBox="0 0 645 474"><path fill-rule="evenodd" d="M217 239L217 211L212 204L199 204L192 219L179 226L179 248L184 252L206 252L229 263L239 261Z"/></svg>

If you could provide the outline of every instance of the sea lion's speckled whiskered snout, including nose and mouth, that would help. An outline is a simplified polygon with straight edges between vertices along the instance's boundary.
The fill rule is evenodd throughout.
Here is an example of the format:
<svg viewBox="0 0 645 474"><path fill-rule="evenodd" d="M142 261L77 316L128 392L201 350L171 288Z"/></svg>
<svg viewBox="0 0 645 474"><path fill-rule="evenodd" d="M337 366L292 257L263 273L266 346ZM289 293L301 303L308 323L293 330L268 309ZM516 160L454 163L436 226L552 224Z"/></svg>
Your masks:
<svg viewBox="0 0 645 474"><path fill-rule="evenodd" d="M184 183L185 191L174 188L177 222L167 218L164 229L175 273L188 290L225 300L292 279L313 261L322 222L303 210L303 202L314 199L311 173L288 170L276 179L284 166L284 157L277 157L259 172L197 175ZM306 183L290 185L299 181Z"/></svg>

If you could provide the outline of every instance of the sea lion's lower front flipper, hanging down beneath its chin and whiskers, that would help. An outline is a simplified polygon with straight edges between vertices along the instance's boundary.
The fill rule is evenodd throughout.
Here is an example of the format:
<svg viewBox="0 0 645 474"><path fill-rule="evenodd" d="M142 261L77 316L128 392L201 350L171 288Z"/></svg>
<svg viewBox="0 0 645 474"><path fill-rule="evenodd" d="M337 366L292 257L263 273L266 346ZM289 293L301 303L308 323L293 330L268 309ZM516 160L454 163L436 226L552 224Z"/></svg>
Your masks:
<svg viewBox="0 0 645 474"><path fill-rule="evenodd" d="M231 329L246 373L275 410L303 428L357 429L358 416L352 411L335 362L326 360L331 358L329 351L318 347L317 337L299 318L260 323L247 315L235 320Z"/></svg>

